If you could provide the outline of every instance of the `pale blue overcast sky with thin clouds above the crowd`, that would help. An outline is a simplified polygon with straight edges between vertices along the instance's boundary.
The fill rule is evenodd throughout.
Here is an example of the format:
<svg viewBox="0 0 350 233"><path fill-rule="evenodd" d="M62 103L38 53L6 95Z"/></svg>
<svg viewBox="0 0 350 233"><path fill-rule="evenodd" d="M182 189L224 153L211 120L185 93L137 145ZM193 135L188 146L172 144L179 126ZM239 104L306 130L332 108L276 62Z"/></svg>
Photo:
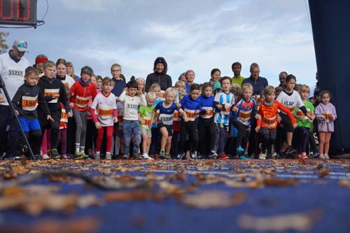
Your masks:
<svg viewBox="0 0 350 233"><path fill-rule="evenodd" d="M89 65L111 76L113 63L130 76L146 78L156 57L165 57L173 83L187 69L195 81L210 78L211 69L233 76L241 62L249 76L252 62L260 76L278 85L280 71L297 83L315 83L316 59L307 0L48 0L45 24L8 31L7 43L28 41L31 64L38 54L56 62L73 62L76 73ZM38 0L40 20L46 2Z"/></svg>

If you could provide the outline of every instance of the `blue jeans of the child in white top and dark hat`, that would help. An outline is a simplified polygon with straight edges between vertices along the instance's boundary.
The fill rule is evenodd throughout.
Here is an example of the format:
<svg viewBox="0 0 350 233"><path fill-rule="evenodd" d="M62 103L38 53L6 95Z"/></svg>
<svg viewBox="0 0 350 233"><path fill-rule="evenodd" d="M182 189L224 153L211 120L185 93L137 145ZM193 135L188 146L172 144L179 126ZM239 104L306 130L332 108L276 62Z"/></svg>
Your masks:
<svg viewBox="0 0 350 233"><path fill-rule="evenodd" d="M140 125L139 120L124 120L124 155L130 155L130 141L132 135L134 135L134 146L132 153L139 153L139 146L141 143Z"/></svg>

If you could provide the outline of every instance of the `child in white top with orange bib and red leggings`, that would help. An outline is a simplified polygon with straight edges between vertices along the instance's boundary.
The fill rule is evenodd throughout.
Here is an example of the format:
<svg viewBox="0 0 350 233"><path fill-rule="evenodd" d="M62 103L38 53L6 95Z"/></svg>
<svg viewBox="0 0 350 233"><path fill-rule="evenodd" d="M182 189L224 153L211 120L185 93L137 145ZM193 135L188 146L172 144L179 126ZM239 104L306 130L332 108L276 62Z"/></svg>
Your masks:
<svg viewBox="0 0 350 233"><path fill-rule="evenodd" d="M92 102L90 113L97 128L96 154L95 159L100 159L102 140L104 139L104 129L107 133L106 160L111 160L113 124L118 122L118 112L116 97L111 91L114 81L111 78L104 78L102 81L103 91L97 94ZM95 114L97 110L98 118Z"/></svg>

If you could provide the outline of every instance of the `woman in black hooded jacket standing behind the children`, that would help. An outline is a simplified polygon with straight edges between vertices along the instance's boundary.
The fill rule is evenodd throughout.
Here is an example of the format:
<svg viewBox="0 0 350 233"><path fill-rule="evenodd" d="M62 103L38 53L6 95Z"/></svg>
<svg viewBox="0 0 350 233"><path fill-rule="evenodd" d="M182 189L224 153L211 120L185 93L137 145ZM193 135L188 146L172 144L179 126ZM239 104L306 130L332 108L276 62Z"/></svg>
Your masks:
<svg viewBox="0 0 350 233"><path fill-rule="evenodd" d="M153 66L154 73L148 74L146 78L146 92L149 91L149 88L153 83L158 83L160 89L167 90L168 87L172 87L172 77L167 75L168 64L165 61L164 57L157 57Z"/></svg>

